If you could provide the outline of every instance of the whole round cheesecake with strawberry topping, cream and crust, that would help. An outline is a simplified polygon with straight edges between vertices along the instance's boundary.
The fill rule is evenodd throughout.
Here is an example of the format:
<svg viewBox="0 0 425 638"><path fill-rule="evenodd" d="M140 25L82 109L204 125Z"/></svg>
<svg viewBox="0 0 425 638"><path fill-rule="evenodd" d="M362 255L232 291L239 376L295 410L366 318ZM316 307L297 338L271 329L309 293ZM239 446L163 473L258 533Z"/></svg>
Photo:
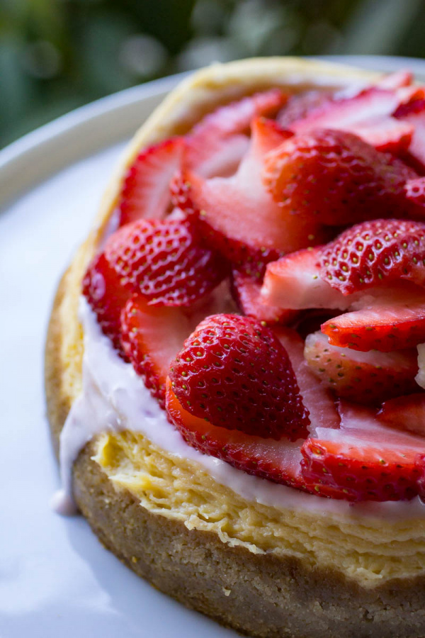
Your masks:
<svg viewBox="0 0 425 638"><path fill-rule="evenodd" d="M425 636L424 176L409 72L179 84L57 290L57 509L240 632Z"/></svg>

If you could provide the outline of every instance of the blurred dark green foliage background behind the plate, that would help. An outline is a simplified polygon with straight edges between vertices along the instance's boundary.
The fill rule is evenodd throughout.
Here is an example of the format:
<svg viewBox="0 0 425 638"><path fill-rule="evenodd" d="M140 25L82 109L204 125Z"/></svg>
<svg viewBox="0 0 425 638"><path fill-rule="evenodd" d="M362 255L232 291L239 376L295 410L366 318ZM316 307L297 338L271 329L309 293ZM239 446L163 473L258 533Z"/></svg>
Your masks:
<svg viewBox="0 0 425 638"><path fill-rule="evenodd" d="M86 102L214 60L425 57L423 0L0 0L0 146Z"/></svg>

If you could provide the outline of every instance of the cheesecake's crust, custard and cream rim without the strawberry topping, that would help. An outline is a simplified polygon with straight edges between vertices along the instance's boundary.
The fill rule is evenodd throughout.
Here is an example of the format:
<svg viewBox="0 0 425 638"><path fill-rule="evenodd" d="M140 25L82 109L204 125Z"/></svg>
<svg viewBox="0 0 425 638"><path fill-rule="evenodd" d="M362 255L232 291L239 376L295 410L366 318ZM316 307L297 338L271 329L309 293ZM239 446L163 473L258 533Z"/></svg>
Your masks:
<svg viewBox="0 0 425 638"><path fill-rule="evenodd" d="M351 67L265 58L212 65L184 80L126 150L52 309L45 381L57 453L70 410L79 430L86 427L61 450L78 509L135 573L244 634L425 636L421 501L321 498L189 447L101 334L81 302L82 280L143 148L185 135L218 106L258 91L334 92L378 79Z"/></svg>

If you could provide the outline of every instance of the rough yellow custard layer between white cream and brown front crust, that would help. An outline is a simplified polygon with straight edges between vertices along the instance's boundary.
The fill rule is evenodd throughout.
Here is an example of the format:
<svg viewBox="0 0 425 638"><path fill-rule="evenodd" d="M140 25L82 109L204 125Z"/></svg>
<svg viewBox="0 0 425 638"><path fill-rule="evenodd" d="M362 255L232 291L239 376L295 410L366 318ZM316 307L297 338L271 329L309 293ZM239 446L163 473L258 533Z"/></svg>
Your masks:
<svg viewBox="0 0 425 638"><path fill-rule="evenodd" d="M117 490L129 490L150 512L182 521L189 530L215 532L249 552L329 566L363 586L425 573L425 519L347 519L247 501L197 463L165 452L138 432L101 435L94 460Z"/></svg>

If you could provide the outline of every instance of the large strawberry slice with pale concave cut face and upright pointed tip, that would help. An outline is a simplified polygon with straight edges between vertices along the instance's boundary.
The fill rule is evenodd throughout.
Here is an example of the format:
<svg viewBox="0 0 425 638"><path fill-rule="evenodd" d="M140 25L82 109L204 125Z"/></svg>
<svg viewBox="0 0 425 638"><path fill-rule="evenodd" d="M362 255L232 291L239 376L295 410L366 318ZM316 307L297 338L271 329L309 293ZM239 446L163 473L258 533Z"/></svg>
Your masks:
<svg viewBox="0 0 425 638"><path fill-rule="evenodd" d="M204 180L183 171L172 186L175 205L199 216L206 240L253 276L262 276L264 264L280 254L318 240L318 225L283 213L261 183L264 155L287 136L276 123L257 119L233 177Z"/></svg>

